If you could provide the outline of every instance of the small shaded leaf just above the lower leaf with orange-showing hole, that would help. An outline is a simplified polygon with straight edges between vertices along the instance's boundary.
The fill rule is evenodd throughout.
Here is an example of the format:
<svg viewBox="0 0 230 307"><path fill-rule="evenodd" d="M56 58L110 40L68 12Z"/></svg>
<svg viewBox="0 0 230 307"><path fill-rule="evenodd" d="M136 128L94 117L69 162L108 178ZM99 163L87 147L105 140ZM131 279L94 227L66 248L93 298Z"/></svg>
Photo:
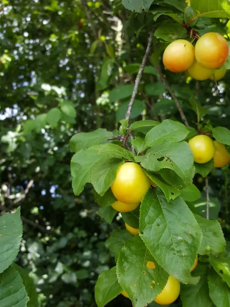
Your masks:
<svg viewBox="0 0 230 307"><path fill-rule="evenodd" d="M126 229L115 229L110 237L105 241L105 246L114 254L116 261L125 242L131 238L131 233L129 233Z"/></svg>

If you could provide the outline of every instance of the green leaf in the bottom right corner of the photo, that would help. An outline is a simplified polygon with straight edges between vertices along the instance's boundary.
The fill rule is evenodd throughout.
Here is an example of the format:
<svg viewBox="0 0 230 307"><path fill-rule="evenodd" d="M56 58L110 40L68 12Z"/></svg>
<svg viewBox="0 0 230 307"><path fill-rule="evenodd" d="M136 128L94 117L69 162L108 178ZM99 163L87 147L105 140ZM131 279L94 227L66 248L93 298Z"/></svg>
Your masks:
<svg viewBox="0 0 230 307"><path fill-rule="evenodd" d="M208 276L209 295L217 307L230 306L230 289L214 270Z"/></svg>

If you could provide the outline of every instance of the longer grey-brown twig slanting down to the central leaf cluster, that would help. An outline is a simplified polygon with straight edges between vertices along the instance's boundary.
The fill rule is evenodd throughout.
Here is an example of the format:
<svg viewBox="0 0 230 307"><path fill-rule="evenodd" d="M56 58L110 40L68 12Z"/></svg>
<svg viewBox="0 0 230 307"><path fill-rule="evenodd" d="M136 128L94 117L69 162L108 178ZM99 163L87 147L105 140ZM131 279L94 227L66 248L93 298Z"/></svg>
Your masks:
<svg viewBox="0 0 230 307"><path fill-rule="evenodd" d="M145 51L145 55L142 59L141 67L140 67L139 72L137 73L137 76L136 76L136 79L135 79L134 89L133 89L132 96L131 96L131 99L130 99L130 102L129 102L129 105L128 105L128 109L127 109L127 112L126 112L126 116L125 116L125 119L127 119L127 120L130 119L131 111L132 111L132 107L133 107L133 102L134 102L134 99L136 97L138 86L140 84L142 74L143 74L143 71L144 71L144 68L145 68L145 64L146 64L146 61L147 61L147 58L148 58L148 55L149 55L149 52L150 52L150 49L151 49L152 36L153 36L153 29L152 29L150 36L149 36L149 39L148 39L148 45L147 45L147 48L146 48L146 51Z"/></svg>

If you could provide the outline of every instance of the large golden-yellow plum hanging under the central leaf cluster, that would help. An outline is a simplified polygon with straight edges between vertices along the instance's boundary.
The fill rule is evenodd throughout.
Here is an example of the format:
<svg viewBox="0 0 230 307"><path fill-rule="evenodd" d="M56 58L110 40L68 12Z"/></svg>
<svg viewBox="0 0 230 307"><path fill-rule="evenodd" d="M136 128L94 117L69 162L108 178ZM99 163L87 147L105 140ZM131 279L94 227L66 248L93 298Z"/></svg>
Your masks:
<svg viewBox="0 0 230 307"><path fill-rule="evenodd" d="M137 204L141 202L149 187L150 179L146 176L141 166L133 162L127 162L118 168L111 190L120 202Z"/></svg>

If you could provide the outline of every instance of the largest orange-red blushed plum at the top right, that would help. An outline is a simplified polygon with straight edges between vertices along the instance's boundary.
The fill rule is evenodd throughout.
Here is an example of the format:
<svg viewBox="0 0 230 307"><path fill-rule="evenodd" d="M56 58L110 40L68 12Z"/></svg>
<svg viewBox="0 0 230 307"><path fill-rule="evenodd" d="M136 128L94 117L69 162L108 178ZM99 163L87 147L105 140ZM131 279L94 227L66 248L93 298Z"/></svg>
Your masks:
<svg viewBox="0 0 230 307"><path fill-rule="evenodd" d="M228 57L228 44L219 33L209 32L202 35L196 42L195 57L205 68L219 68Z"/></svg>

